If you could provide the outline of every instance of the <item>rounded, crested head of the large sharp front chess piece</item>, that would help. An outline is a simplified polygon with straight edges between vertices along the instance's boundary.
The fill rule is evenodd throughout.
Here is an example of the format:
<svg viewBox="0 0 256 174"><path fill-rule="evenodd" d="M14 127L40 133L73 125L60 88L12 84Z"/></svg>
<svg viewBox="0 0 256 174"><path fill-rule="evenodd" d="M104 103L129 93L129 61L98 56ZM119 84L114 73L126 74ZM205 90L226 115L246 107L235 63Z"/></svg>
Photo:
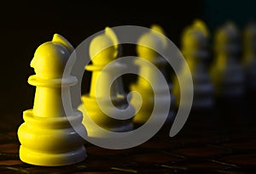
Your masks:
<svg viewBox="0 0 256 174"><path fill-rule="evenodd" d="M36 76L44 79L61 78L73 46L63 36L55 34L52 41L40 45L31 61Z"/></svg>

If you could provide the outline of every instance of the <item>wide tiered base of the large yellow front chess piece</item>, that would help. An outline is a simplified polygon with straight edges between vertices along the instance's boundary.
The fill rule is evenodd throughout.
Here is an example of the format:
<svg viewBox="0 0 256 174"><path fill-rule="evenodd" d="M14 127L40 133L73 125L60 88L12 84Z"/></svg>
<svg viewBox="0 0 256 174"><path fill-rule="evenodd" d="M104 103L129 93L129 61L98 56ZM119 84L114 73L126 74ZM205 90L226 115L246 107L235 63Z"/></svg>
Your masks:
<svg viewBox="0 0 256 174"><path fill-rule="evenodd" d="M70 118L68 118L70 117ZM18 130L20 160L37 166L66 166L86 157L82 125L83 115L74 111L71 116L39 117L32 109L23 113L24 123Z"/></svg>

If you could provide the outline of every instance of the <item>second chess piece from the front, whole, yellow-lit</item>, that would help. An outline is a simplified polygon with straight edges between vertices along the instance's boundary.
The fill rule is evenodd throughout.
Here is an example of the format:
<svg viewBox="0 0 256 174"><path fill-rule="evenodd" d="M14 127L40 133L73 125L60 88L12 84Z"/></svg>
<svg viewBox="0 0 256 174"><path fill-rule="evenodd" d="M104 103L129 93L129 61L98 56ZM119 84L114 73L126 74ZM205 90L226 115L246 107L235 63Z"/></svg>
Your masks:
<svg viewBox="0 0 256 174"><path fill-rule="evenodd" d="M111 46L111 47L108 47ZM112 60L116 59L118 55L118 39L115 33L108 27L105 29L105 33L96 36L90 42L90 59L92 65L87 65L86 70L92 72L90 81L90 92L82 96L83 104L79 105L84 115L90 116L90 119L94 121L98 126L111 132L128 132L133 129L131 119L116 120L106 115L97 101L108 100L108 87L111 87L110 98L113 105L118 109L126 109L127 115L134 114L134 108L128 105L125 97L124 88L121 78L113 81L111 86L111 76L115 73L119 73L119 70L126 68L118 62L113 62L110 69L103 70L104 66L108 65ZM99 76L102 76L98 80ZM119 113L115 112L113 105L105 104L103 107L108 109L109 113L118 116ZM127 108L128 107L128 108ZM84 110L85 109L85 110ZM86 119L83 120L84 126L88 132L88 137L102 138L100 132L93 128Z"/></svg>

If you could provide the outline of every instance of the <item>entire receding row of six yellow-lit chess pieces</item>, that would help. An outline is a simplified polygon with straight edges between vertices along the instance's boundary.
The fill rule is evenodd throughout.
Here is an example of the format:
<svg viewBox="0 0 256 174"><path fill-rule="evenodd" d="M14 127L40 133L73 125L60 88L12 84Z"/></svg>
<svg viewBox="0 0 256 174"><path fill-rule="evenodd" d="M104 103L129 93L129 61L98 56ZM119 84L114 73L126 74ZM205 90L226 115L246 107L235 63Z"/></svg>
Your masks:
<svg viewBox="0 0 256 174"><path fill-rule="evenodd" d="M253 34L256 33L254 29L255 27L249 28L246 35L248 45L245 65L250 79L254 79L256 74L256 69L254 69L255 44L251 40ZM153 25L152 31L148 31L138 38L138 43L148 42L150 48L138 44L137 54L155 65L164 76L169 76L166 71L165 59L154 51L159 47L166 49L166 38L162 36L163 34L164 31L159 25ZM235 25L227 24L219 29L214 48L217 56L211 70L208 70L206 62L209 59L209 32L207 26L201 20L195 20L194 24L184 30L181 50L190 70L183 69L183 65L181 65L179 73L181 73L183 81L186 81L188 73L192 75L194 83L193 109L211 108L214 104L214 93L227 97L239 96L244 93L245 75L243 66L238 62L238 37L239 33ZM98 50L104 48L106 44L113 46L99 53ZM113 64L112 70L103 70L104 66L118 57L118 51L118 38L108 27L102 35L96 36L90 42L92 64L85 67L86 70L92 72L90 92L82 96L83 104L78 109L73 109L69 88L76 84L77 79L74 76L62 79L67 60L73 52L73 46L63 36L55 34L51 42L45 42L38 47L31 63L36 75L31 76L28 80L30 84L37 87L34 107L24 111L25 122L18 131L21 143L20 160L38 166L63 166L79 162L86 156L84 139L79 134L87 135L88 132L88 136L91 137L101 138L102 136L83 119L83 115L89 115L97 125L109 131L129 132L134 129L133 123L143 124L148 121L154 106L154 93L160 93L160 102L165 103L166 93L161 93L163 91L161 84L156 84L156 91L153 92L150 84L138 77L138 80L131 84L130 88L142 95L143 104L133 119L114 120L102 112L97 99L104 102L108 98L105 87L111 85L108 83L112 73L117 73L120 69L125 68L125 65ZM143 65L138 65L138 67L138 72L146 74L150 81L157 80L158 77L155 76L154 70ZM98 76L103 76L104 80L97 81ZM252 82L252 80L249 81ZM172 81L168 81L172 103L174 103L174 98L177 107L180 107L178 85L178 81L174 81L173 84ZM133 105L137 104L137 100L131 98L131 105L127 106L121 79L114 81L110 94L116 107L126 108L127 115L134 113ZM63 108L62 95L66 95L69 112L65 112ZM112 105L106 104L105 107L109 113L118 115ZM171 105L170 110L170 117L173 118L174 109ZM72 126L70 121L73 122Z"/></svg>

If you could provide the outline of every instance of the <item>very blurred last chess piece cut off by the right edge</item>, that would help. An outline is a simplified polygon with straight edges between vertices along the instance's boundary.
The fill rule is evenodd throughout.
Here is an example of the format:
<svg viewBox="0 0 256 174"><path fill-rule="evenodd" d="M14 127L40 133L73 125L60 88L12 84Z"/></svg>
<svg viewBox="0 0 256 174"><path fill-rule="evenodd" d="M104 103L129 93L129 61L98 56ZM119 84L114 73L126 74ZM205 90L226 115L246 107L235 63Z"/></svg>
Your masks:
<svg viewBox="0 0 256 174"><path fill-rule="evenodd" d="M243 32L243 65L249 93L256 93L256 24L250 23Z"/></svg>

